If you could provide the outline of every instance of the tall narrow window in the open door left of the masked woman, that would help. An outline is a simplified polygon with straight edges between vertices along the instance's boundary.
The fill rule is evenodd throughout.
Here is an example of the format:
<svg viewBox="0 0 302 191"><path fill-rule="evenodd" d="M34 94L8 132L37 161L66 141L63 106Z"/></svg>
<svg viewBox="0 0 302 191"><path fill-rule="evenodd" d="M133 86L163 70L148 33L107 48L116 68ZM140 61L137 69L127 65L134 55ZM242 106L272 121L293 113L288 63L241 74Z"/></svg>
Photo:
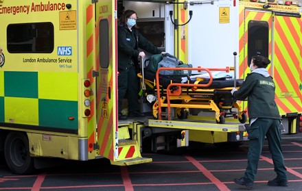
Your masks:
<svg viewBox="0 0 302 191"><path fill-rule="evenodd" d="M107 19L100 21L100 66L108 68L109 66L109 23Z"/></svg>

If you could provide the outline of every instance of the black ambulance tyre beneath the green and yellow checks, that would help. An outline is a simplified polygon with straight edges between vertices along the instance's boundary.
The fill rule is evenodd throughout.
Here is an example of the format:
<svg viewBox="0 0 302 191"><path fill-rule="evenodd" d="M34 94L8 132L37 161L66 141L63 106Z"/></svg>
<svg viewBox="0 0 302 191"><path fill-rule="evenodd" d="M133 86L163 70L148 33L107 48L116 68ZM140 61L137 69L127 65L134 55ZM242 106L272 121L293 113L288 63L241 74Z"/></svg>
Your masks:
<svg viewBox="0 0 302 191"><path fill-rule="evenodd" d="M25 175L34 171L34 159L30 156L29 142L25 133L8 134L5 139L4 155L12 173Z"/></svg>

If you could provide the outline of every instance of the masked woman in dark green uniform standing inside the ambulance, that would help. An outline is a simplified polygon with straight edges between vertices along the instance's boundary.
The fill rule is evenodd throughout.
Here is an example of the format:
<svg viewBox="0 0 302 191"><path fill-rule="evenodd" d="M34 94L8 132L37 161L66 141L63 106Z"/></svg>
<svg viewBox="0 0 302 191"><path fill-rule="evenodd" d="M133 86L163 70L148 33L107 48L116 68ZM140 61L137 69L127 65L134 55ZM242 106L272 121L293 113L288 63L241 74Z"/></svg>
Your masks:
<svg viewBox="0 0 302 191"><path fill-rule="evenodd" d="M118 99L119 99L119 120L126 120L127 116L121 114L122 101L127 94L128 116L143 117L139 105L139 86L135 63L139 56L145 57L143 49L149 53L162 53L151 42L144 38L136 26L137 14L133 10L126 10L121 15L120 25L117 28L118 36Z"/></svg>

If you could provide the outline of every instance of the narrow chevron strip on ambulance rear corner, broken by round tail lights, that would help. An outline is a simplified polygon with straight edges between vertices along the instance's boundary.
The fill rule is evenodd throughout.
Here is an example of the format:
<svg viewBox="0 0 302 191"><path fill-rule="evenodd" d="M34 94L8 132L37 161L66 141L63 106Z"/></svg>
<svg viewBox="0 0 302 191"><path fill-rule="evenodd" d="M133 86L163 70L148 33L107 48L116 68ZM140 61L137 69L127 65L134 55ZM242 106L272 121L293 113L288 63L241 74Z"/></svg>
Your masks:
<svg viewBox="0 0 302 191"><path fill-rule="evenodd" d="M86 78L90 79L91 86L94 84L94 78L92 77L92 70L94 65L94 43L93 43L93 31L94 31L94 9L93 5L89 4L86 7ZM88 151L93 151L93 144L95 143L95 110L93 109L94 99L91 100L91 116L88 118Z"/></svg>

